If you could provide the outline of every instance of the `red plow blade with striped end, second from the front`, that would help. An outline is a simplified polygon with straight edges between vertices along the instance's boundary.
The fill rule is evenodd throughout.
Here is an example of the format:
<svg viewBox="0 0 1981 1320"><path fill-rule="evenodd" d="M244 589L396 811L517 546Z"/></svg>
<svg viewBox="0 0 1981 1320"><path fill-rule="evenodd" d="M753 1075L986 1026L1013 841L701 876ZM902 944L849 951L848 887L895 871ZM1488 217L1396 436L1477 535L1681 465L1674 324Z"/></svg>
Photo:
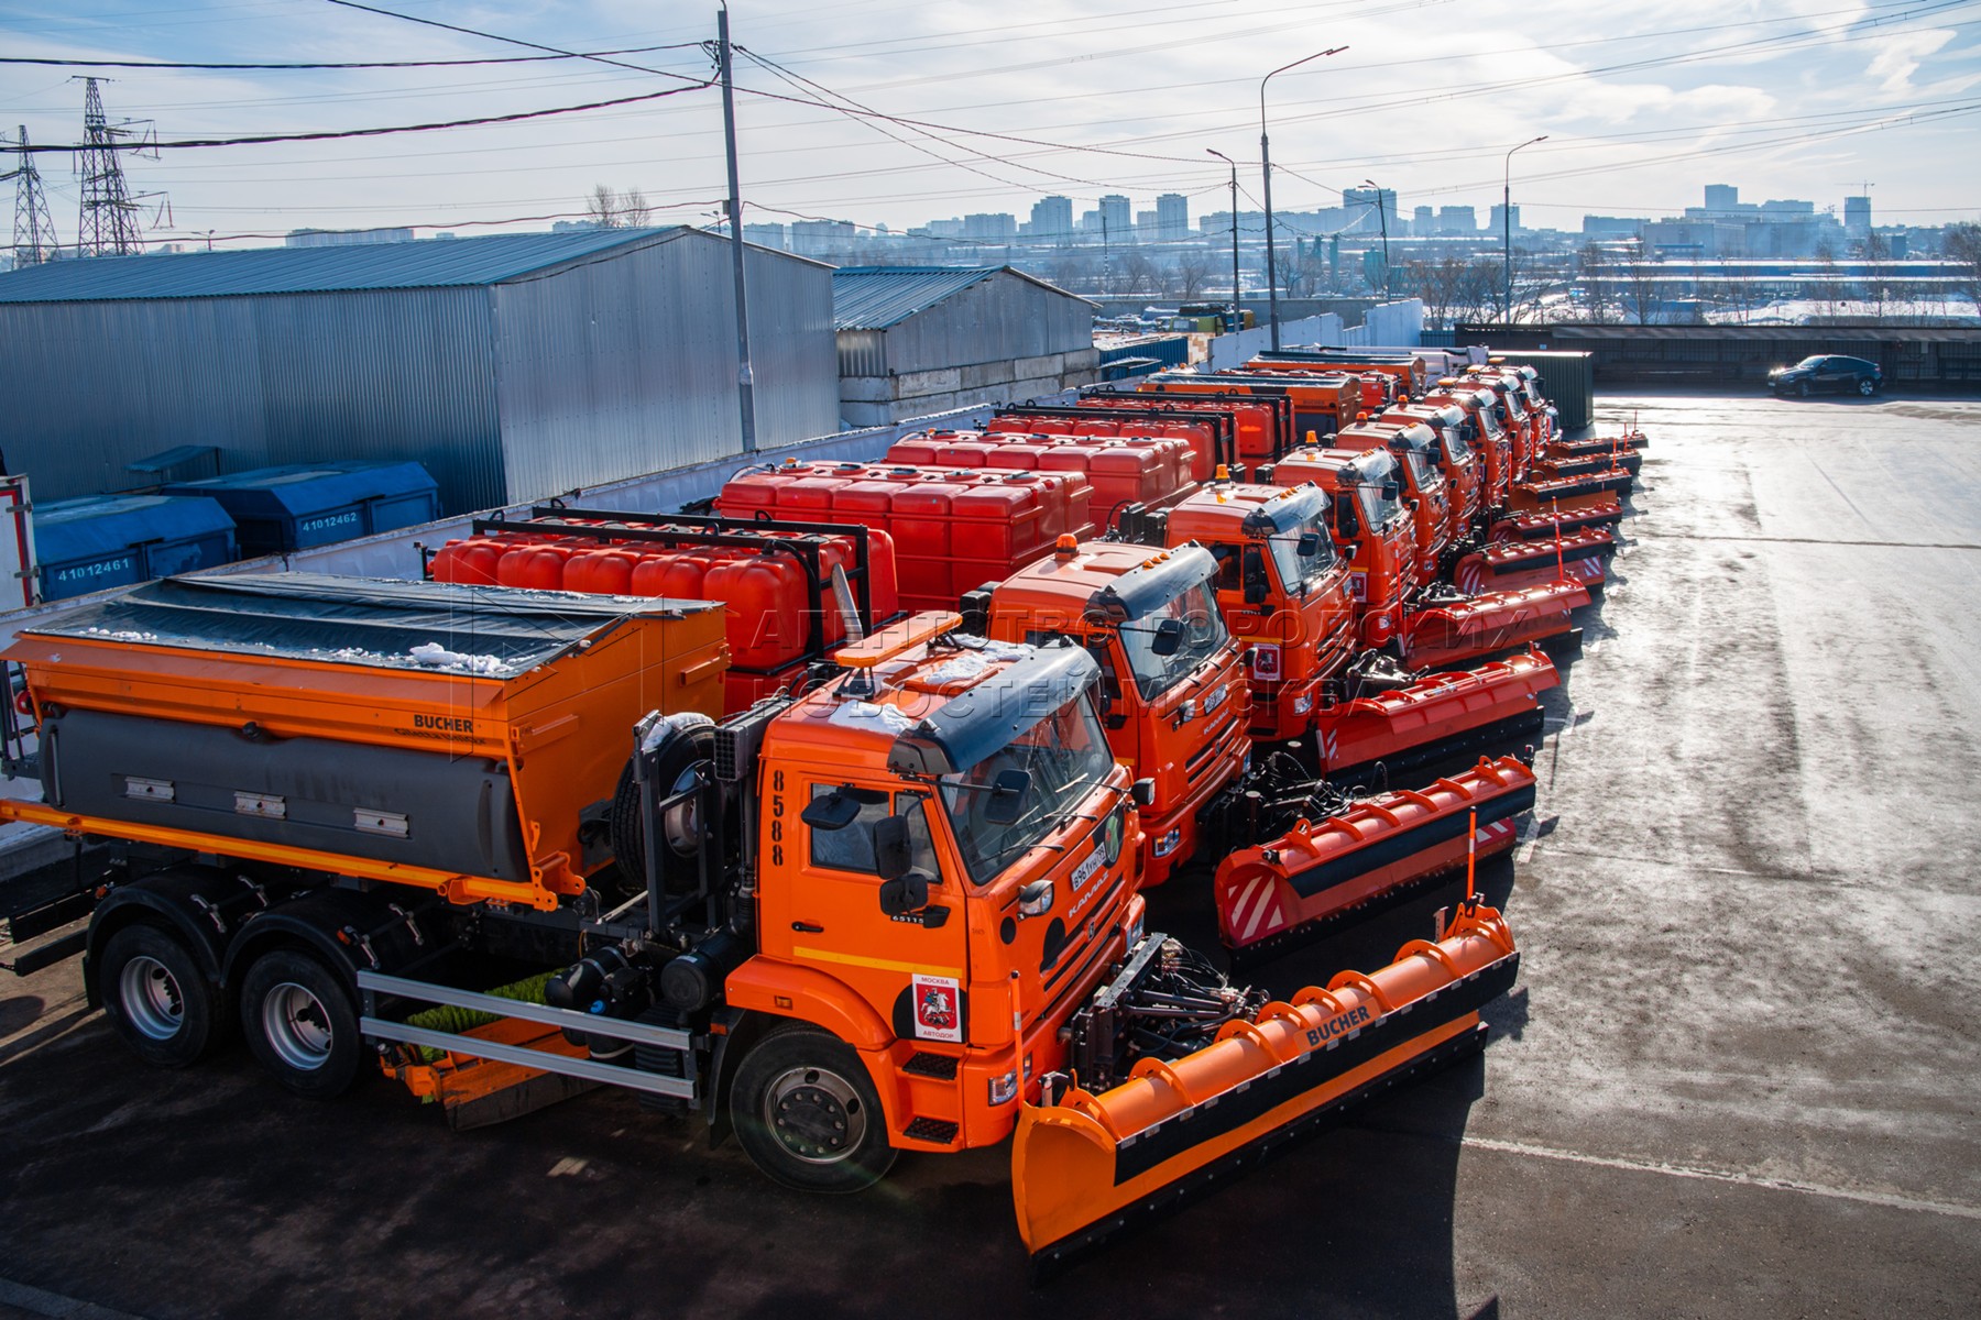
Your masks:
<svg viewBox="0 0 1981 1320"><path fill-rule="evenodd" d="M1513 817L1531 805L1533 770L1502 756L1422 790L1359 798L1337 815L1303 819L1218 863L1218 938L1232 966L1278 956L1351 912L1464 867L1474 811L1476 855L1504 853L1513 847Z"/></svg>

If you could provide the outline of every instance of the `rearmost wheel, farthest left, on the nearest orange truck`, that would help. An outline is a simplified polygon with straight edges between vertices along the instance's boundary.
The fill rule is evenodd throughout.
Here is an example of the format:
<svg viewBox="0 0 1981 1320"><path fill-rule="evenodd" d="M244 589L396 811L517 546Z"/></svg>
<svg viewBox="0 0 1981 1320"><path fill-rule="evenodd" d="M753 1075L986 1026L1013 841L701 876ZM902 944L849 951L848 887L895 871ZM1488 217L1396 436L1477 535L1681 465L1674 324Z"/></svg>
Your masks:
<svg viewBox="0 0 1981 1320"><path fill-rule="evenodd" d="M95 974L103 1015L145 1063L184 1069L228 1035L220 988L186 946L158 926L111 932Z"/></svg>

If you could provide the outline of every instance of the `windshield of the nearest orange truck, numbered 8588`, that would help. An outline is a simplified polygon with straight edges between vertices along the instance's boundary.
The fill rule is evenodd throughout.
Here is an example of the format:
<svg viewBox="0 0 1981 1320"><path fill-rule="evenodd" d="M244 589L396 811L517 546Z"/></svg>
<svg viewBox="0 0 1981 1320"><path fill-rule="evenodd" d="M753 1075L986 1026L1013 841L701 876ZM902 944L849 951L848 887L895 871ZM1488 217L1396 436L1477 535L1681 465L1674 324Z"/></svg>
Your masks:
<svg viewBox="0 0 1981 1320"><path fill-rule="evenodd" d="M992 792L998 776L1010 770L1026 774L1016 800ZM1002 875L1111 770L1107 736L1094 703L1082 693L963 774L945 774L943 809L971 881L989 885ZM992 815L998 819L992 821Z"/></svg>

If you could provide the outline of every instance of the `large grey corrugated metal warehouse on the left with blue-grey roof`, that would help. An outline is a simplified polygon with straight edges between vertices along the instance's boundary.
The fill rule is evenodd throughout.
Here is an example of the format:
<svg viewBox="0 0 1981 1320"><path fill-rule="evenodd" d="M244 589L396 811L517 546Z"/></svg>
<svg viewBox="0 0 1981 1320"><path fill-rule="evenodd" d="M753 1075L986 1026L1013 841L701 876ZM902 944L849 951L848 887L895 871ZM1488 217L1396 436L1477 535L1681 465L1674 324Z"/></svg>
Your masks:
<svg viewBox="0 0 1981 1320"><path fill-rule="evenodd" d="M747 275L757 443L838 431L830 267ZM687 228L52 261L0 275L0 360L38 499L184 443L418 459L448 513L741 449L729 245Z"/></svg>

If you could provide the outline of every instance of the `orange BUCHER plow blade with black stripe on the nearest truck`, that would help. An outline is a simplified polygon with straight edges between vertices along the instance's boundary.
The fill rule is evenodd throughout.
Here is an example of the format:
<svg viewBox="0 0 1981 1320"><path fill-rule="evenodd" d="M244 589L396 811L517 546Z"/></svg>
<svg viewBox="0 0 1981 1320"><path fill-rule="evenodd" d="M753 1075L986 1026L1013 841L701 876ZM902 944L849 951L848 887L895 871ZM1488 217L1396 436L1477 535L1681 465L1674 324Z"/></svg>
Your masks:
<svg viewBox="0 0 1981 1320"><path fill-rule="evenodd" d="M1506 920L1460 906L1436 944L1412 940L1387 968L1264 1005L1216 1043L1135 1065L1101 1094L1074 1086L1024 1104L1012 1140L1012 1201L1034 1273L1230 1181L1355 1102L1484 1043L1480 1007L1506 993L1519 954Z"/></svg>

